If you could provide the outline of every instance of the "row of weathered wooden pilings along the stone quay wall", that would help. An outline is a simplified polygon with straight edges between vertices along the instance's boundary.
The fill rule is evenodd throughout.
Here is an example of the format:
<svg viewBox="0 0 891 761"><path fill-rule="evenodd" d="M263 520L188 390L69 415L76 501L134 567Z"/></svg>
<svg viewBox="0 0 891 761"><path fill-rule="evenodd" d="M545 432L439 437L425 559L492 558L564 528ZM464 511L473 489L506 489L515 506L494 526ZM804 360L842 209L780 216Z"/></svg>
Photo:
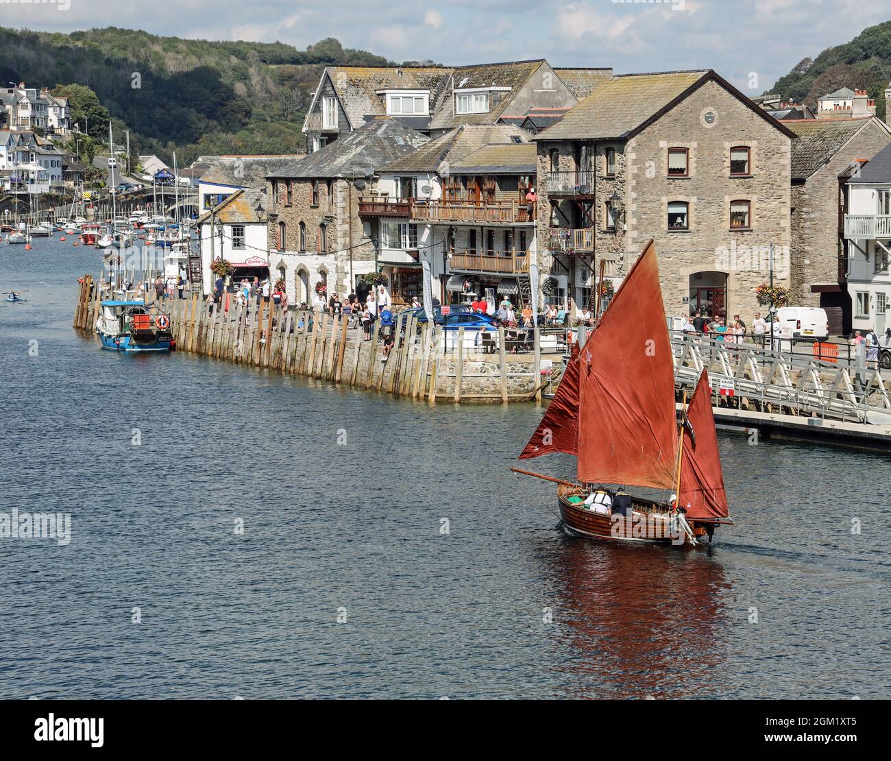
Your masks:
<svg viewBox="0 0 891 761"><path fill-rule="evenodd" d="M91 275L81 282L74 327L94 331L102 299L99 283ZM127 299L134 295L127 293ZM143 299L143 296L135 297ZM144 297L151 304L154 293ZM348 317L326 312L284 309L271 302L239 303L225 294L220 305L198 296L168 299L159 304L169 315L176 349L234 364L329 380L335 384L373 389L397 396L438 401L513 402L541 399L544 385L539 370L539 342L526 356L507 356L504 329L499 328L495 354L480 355L464 346L464 329L457 332L454 348L446 346L442 326L407 316L393 331L394 343L387 362L381 324L375 321L372 339L353 329ZM222 307L222 308L220 308ZM415 340L412 340L412 338ZM483 367L485 365L485 367ZM485 369L486 372L478 372ZM485 379L485 380L483 380Z"/></svg>

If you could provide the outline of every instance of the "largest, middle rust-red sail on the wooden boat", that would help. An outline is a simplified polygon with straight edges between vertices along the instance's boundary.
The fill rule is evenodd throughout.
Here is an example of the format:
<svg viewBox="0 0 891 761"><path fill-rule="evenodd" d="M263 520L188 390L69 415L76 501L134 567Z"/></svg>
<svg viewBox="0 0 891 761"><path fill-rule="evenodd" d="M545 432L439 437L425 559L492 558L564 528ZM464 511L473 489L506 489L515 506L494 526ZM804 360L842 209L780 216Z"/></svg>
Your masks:
<svg viewBox="0 0 891 761"><path fill-rule="evenodd" d="M671 488L674 364L652 241L579 352L578 479Z"/></svg>

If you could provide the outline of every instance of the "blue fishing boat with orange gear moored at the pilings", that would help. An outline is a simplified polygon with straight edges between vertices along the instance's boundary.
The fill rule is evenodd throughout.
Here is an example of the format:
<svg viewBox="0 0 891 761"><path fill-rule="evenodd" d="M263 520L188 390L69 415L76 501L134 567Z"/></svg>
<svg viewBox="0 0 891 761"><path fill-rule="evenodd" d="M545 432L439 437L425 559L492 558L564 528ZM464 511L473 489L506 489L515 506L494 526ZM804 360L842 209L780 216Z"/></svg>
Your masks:
<svg viewBox="0 0 891 761"><path fill-rule="evenodd" d="M102 348L116 351L171 351L176 342L170 333L170 317L142 300L106 299L100 304L96 332Z"/></svg>

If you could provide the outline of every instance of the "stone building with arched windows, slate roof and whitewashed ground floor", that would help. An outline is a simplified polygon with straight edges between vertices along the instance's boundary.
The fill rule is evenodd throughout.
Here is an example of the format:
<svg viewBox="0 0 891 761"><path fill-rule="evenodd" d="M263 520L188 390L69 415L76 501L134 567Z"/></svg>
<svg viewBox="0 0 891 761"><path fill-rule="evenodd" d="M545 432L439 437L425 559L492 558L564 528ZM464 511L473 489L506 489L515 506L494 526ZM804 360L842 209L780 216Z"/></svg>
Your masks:
<svg viewBox="0 0 891 761"><path fill-rule="evenodd" d="M376 270L359 198L377 192L380 167L428 142L383 117L266 177L270 273L282 277L292 304L312 303L320 285L346 294Z"/></svg>

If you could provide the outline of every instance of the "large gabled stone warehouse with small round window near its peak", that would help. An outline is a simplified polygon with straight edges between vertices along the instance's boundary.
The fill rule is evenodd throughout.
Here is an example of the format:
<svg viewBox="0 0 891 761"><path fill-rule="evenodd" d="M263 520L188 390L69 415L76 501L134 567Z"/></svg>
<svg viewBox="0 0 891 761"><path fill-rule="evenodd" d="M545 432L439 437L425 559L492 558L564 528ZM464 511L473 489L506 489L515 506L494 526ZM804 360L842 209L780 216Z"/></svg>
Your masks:
<svg viewBox="0 0 891 761"><path fill-rule="evenodd" d="M540 268L580 307L653 238L667 314L751 315L771 244L789 283L794 136L712 70L601 78L533 138Z"/></svg>

